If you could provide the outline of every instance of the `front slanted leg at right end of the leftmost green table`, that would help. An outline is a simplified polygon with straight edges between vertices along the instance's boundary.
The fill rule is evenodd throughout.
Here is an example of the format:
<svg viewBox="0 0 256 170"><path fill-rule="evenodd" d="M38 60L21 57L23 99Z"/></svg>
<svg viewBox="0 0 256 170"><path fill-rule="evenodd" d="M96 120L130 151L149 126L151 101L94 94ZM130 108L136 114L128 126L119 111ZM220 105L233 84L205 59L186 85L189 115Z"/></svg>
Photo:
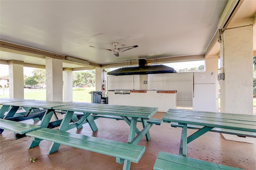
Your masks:
<svg viewBox="0 0 256 170"><path fill-rule="evenodd" d="M49 123L50 123L50 120L51 120L51 118L52 118L53 112L54 112L54 110L52 110L52 109L48 109L48 110L45 112L44 117L43 117L43 119L42 119L42 121L41 121L41 123L40 123L40 126L41 126L41 127L45 127L45 128L48 127L48 125L49 125ZM29 148L33 148L33 147L35 147L35 146L38 146L39 143L40 143L40 141L41 141L40 139L34 138L34 139L32 140L32 143L30 144Z"/></svg>

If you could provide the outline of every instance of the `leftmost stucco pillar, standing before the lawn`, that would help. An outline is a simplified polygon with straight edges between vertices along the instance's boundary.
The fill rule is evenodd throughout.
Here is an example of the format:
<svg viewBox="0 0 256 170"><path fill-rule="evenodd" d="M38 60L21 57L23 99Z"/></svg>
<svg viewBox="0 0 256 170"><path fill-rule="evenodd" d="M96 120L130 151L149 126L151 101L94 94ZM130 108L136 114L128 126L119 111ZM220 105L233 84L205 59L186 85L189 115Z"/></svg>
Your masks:
<svg viewBox="0 0 256 170"><path fill-rule="evenodd" d="M10 60L9 64L9 97L24 99L23 61Z"/></svg>

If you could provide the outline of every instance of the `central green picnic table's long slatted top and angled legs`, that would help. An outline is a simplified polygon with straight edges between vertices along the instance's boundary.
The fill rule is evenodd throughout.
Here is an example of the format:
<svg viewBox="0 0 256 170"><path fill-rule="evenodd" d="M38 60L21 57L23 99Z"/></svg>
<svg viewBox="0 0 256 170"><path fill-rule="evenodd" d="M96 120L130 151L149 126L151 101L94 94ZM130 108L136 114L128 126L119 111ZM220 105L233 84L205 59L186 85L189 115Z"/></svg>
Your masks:
<svg viewBox="0 0 256 170"><path fill-rule="evenodd" d="M98 130L94 118L91 114L99 114L99 115L113 115L120 116L128 125L130 125L130 131L128 136L129 144L138 144L143 136L146 136L147 140L150 140L149 129L152 127L154 123L148 123L148 119L150 119L157 111L158 108L155 107L134 107L134 106L121 106L121 105L102 105L102 104L92 104L92 103L76 103L70 105L62 105L53 107L52 109L63 110L66 111L62 123L59 127L60 131L66 131L74 127L81 127L84 123L89 123L90 127L93 131ZM78 121L73 121L74 123L70 123L72 118L76 117L74 112L83 113L84 116L81 117ZM143 125L143 129L139 130L137 128L137 120L140 119ZM137 135L136 135L137 133ZM37 138L34 138L34 145L32 143L31 147L37 146L40 142ZM37 142L37 143L36 143ZM50 150L48 154L51 154L58 150L60 143L52 142ZM127 161L124 163L124 167L127 169L130 168L131 161Z"/></svg>

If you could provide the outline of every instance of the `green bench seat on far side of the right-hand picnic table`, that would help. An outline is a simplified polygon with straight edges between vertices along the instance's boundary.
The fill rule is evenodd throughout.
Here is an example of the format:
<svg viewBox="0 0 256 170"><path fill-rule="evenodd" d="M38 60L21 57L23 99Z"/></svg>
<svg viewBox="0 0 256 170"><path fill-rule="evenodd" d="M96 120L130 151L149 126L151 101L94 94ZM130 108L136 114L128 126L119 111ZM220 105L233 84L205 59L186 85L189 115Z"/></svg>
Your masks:
<svg viewBox="0 0 256 170"><path fill-rule="evenodd" d="M171 127L183 127L183 125L177 123L177 122L172 122L171 123ZM188 128L191 129L201 129L203 128L203 126L200 125L190 125L188 124ZM225 128L212 128L212 130L210 130L211 132L219 132L219 133L226 133L226 134L234 134L237 135L239 137L253 137L256 138L256 133L255 132L246 132L246 131L242 131L242 130L232 130L232 129L225 129Z"/></svg>

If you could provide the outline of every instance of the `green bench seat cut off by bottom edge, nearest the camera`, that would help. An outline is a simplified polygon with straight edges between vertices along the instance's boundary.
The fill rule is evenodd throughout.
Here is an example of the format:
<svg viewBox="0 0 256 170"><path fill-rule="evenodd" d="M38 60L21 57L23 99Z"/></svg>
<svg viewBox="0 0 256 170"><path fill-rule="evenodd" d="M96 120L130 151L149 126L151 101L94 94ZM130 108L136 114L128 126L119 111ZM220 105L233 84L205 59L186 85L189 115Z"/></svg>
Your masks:
<svg viewBox="0 0 256 170"><path fill-rule="evenodd" d="M188 158L182 155L159 152L154 170L242 170L231 166Z"/></svg>

